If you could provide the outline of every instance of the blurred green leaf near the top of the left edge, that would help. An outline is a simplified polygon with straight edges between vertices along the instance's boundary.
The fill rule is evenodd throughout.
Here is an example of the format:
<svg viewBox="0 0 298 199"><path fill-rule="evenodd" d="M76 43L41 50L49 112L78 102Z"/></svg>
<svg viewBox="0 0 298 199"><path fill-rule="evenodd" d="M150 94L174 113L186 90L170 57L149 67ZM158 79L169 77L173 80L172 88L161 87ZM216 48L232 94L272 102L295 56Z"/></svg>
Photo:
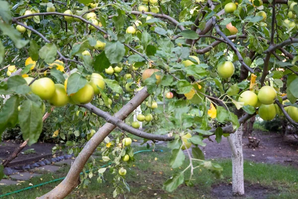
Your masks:
<svg viewBox="0 0 298 199"><path fill-rule="evenodd" d="M0 29L2 30L2 34L7 35L13 41L15 47L18 49L23 48L29 43L29 40L23 40L21 33L19 33L9 24L0 23Z"/></svg>

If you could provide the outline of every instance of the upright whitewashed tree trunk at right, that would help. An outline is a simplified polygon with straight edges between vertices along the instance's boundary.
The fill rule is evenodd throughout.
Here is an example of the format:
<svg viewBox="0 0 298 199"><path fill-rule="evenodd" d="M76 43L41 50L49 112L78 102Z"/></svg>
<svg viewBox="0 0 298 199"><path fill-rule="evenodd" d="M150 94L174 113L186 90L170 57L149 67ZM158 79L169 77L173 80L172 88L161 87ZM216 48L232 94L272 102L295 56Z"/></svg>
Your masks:
<svg viewBox="0 0 298 199"><path fill-rule="evenodd" d="M234 196L244 195L242 125L235 133L227 137L232 151L232 193Z"/></svg>

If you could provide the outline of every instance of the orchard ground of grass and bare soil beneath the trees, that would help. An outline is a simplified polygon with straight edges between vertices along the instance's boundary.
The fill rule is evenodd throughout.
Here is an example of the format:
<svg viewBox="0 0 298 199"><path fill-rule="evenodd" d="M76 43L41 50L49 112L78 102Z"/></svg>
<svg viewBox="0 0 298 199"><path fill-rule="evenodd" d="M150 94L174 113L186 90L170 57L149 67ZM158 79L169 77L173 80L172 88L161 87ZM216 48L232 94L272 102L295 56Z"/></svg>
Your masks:
<svg viewBox="0 0 298 199"><path fill-rule="evenodd" d="M255 136L260 139L259 148L249 149L247 138L243 138L244 159L244 179L246 196L241 199L292 199L298 198L298 145L291 137L284 138L280 134L268 132L255 132ZM133 139L135 137L132 137ZM214 138L212 137L212 140ZM195 170L195 186L187 187L181 185L173 193L163 191L162 184L171 176L172 169L168 165L169 149L164 146L166 143L159 142L155 149L163 152L144 152L136 154L136 162L131 170L128 170L126 179L130 185L130 193L126 192L128 199L231 199L231 161L230 149L226 138L218 144L215 140L202 147L206 159L221 164L224 168L224 179L215 179L214 175L206 170ZM133 142L134 151L147 149L140 146L140 140ZM150 142L149 142L150 143ZM35 145L36 146L36 145ZM31 148L35 147L34 145ZM5 147L5 146L3 146ZM1 147L2 148L2 147ZM36 147L35 147L36 148ZM48 147L50 148L50 146ZM38 151L38 148L36 148ZM99 152L96 152L99 153ZM96 154L95 153L95 154ZM157 159L156 159L157 158ZM100 159L97 159L100 164ZM181 167L187 166L186 161ZM54 174L44 174L41 177L32 178L29 181L17 186L1 186L0 194L19 190L29 186L29 183L37 185L53 179L66 176L69 167L62 168ZM177 169L179 170L179 169ZM188 173L189 175L189 173ZM105 182L97 184L96 178L92 178L92 183L88 189L75 190L68 198L93 199L113 198L112 176L108 172L104 174ZM42 179L42 180L41 180ZM8 198L34 199L47 193L59 182L51 183L19 194L11 195ZM119 196L117 199L124 199Z"/></svg>

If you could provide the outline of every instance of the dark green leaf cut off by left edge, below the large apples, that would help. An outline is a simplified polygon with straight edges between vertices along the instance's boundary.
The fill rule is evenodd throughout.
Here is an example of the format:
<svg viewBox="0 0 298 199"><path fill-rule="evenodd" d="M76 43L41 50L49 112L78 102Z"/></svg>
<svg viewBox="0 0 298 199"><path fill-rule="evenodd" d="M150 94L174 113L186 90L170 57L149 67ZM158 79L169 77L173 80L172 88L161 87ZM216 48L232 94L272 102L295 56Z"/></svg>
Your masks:
<svg viewBox="0 0 298 199"><path fill-rule="evenodd" d="M0 137L6 128L14 127L16 124L19 103L19 97L15 95L6 100L2 107L2 111L0 112Z"/></svg>

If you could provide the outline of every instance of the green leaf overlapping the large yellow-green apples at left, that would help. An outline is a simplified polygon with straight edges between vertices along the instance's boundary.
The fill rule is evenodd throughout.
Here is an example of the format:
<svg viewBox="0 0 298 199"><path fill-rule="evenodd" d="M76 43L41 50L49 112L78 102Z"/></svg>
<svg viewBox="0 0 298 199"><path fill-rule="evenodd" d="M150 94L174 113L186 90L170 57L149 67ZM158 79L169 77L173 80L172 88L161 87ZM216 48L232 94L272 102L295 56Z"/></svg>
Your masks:
<svg viewBox="0 0 298 199"><path fill-rule="evenodd" d="M72 74L67 81L67 94L71 95L83 88L87 84L86 78L78 73Z"/></svg>

